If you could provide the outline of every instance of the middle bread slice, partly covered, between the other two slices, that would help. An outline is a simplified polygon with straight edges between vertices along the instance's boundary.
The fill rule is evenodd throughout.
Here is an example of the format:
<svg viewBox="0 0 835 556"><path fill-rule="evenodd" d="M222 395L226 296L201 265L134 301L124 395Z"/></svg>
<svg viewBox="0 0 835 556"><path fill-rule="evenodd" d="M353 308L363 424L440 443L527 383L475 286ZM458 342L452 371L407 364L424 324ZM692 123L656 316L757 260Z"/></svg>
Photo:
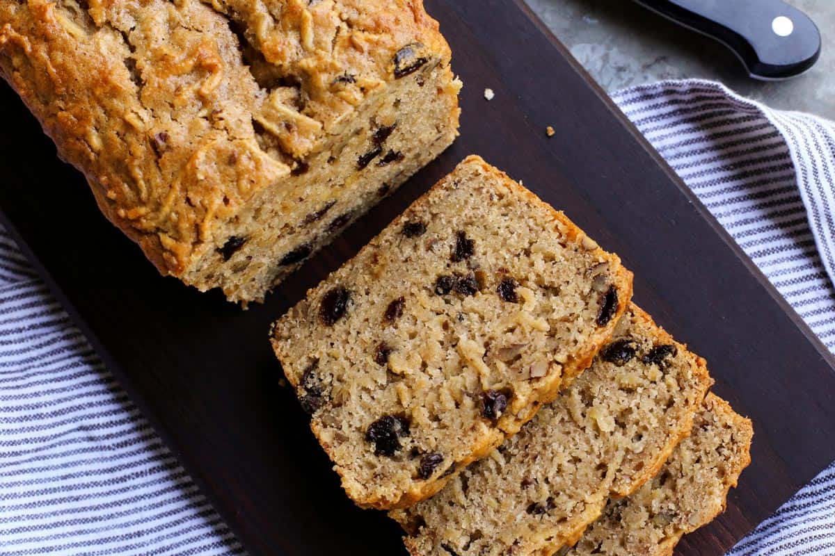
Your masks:
<svg viewBox="0 0 835 556"><path fill-rule="evenodd" d="M413 556L554 553L610 496L657 473L710 385L704 360L630 305L567 392L433 498L391 516Z"/></svg>

